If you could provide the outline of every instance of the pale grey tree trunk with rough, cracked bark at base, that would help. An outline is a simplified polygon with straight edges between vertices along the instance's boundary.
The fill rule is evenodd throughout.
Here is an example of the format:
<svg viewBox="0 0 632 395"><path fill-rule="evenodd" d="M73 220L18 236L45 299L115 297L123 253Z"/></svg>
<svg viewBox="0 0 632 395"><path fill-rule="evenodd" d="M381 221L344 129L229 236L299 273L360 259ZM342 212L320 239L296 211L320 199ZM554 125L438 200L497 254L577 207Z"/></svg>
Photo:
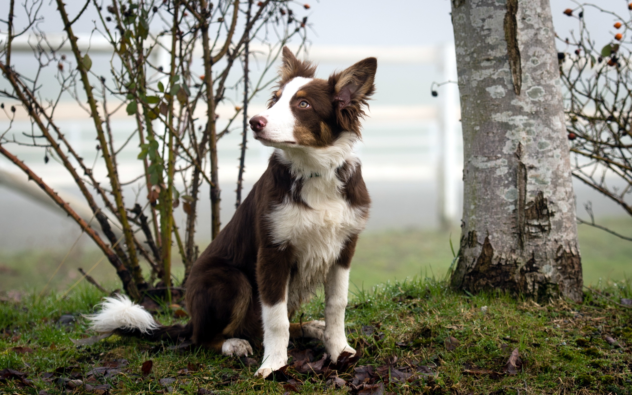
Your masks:
<svg viewBox="0 0 632 395"><path fill-rule="evenodd" d="M452 285L582 300L549 0L452 0L463 221Z"/></svg>

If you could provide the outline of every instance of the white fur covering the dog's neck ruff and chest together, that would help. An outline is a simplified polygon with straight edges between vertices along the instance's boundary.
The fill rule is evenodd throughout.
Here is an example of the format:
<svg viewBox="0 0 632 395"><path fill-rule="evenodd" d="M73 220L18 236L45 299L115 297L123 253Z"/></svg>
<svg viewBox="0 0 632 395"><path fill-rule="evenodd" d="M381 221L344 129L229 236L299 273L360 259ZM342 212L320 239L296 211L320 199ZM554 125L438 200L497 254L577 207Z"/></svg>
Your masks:
<svg viewBox="0 0 632 395"><path fill-rule="evenodd" d="M298 255L298 275L291 279L288 290L289 310L298 310L311 298L349 236L365 227L367 208L349 206L341 193L343 182L336 176L337 167L345 161L350 162L352 171L358 166L353 154L355 141L355 135L343 133L330 147L279 152L291 171L303 178L301 198L310 207L288 200L269 216L274 243L292 245Z"/></svg>

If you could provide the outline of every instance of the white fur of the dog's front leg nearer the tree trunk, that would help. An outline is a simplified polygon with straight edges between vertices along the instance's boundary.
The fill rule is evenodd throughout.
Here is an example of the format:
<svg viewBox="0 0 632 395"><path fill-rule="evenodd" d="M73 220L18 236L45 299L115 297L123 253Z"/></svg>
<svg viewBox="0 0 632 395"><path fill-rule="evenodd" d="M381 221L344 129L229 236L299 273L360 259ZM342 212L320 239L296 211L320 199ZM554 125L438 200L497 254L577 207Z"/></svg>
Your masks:
<svg viewBox="0 0 632 395"><path fill-rule="evenodd" d="M325 333L323 342L335 363L343 351L355 354L344 334L344 309L347 307L349 269L334 265L325 281Z"/></svg>

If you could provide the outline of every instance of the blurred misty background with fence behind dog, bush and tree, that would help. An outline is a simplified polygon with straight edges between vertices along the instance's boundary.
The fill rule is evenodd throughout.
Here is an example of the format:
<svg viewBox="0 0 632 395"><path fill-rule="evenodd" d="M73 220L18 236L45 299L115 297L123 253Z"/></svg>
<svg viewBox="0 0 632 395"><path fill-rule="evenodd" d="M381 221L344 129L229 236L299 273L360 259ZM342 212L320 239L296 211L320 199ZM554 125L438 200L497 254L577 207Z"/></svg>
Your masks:
<svg viewBox="0 0 632 395"><path fill-rule="evenodd" d="M574 5L568 0L551 2L560 37L568 36L575 27L576 21L562 14ZM622 15L628 12L624 1L602 0L600 6ZM50 8L54 13L54 7ZM0 4L0 16L7 13L8 4ZM376 56L379 61L377 93L364 123L363 141L358 145L363 175L374 202L352 266L351 281L358 288L407 276L442 277L453 258L450 241L454 252L458 248L462 193L458 88L454 83L432 87L433 82L456 81L449 13L447 0L398 0L387 6L383 2L354 0L311 3L308 58L319 63L317 76L326 78L332 71L367 56ZM612 16L593 11L585 18L594 26L593 39L607 44L612 37ZM82 20L75 32L87 35L93 25L90 18ZM61 32L59 20L46 20L40 28L51 35ZM107 73L107 52L99 54L97 46L92 51L95 73ZM21 73L36 70L30 50L18 52L13 58ZM0 86L4 87L4 82ZM436 97L432 90L437 91ZM262 109L265 100L267 94L258 97L249 114ZM226 111L219 108L219 122L222 116L228 116L228 107L231 104L226 104ZM121 112L114 118L114 133L124 139L135 123ZM12 132L30 131L28 118L20 111L17 114ZM57 119L66 137L85 152L85 157L94 158L94 126L87 114L69 100L59 107ZM8 118L0 113L0 130L8 127ZM219 142L222 224L229 221L234 210L239 142L239 130ZM40 150L12 150L64 196L79 197L62 167L54 161L45 163ZM130 181L139 166L136 150L137 147L123 150L119 159L121 166L129 169ZM246 191L264 171L270 152L249 138ZM4 158L0 158L0 171L25 178ZM598 222L632 234L631 219L615 204L581 183L574 182L574 187L578 216L587 217L584 205L590 202ZM133 198L137 192L132 187L128 195ZM209 202L208 191L202 195L202 201ZM200 250L210 241L210 224L204 226L205 221L209 222L210 202L202 207L205 209L200 210L198 217ZM632 275L632 242L586 225L579 226L579 233L586 284L608 279L621 281ZM60 210L8 188L6 180L3 183L0 177L0 290L42 288L79 235L75 222ZM53 277L53 288L67 288L80 276L77 267L92 267L100 257L99 250L83 236ZM114 269L106 261L92 274L102 283L116 286Z"/></svg>

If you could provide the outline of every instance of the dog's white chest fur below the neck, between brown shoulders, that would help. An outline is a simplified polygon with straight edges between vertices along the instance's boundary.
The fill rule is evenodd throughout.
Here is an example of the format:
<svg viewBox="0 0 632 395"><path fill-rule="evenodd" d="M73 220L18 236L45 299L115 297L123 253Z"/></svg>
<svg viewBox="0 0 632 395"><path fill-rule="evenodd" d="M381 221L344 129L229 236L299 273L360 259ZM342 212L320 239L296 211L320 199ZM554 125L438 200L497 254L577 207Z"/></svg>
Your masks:
<svg viewBox="0 0 632 395"><path fill-rule="evenodd" d="M314 176L303 182L301 198L309 206L286 202L270 215L274 241L296 252L297 272L288 289L288 307L296 310L324 282L349 236L360 233L367 219L349 206L335 176Z"/></svg>

